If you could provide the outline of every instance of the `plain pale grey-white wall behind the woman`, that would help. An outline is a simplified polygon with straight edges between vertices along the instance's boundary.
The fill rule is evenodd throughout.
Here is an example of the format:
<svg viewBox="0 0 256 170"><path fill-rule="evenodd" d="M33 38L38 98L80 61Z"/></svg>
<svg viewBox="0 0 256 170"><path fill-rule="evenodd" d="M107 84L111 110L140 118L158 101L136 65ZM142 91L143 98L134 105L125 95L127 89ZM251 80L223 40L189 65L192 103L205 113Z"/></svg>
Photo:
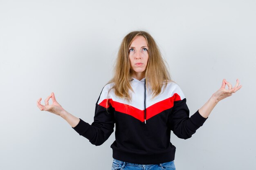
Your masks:
<svg viewBox="0 0 256 170"><path fill-rule="evenodd" d="M190 115L223 78L243 85L192 138L171 135L177 170L255 170L255 16L255 0L0 0L0 169L110 170L114 133L96 147L36 101L54 92L92 123L121 40L144 30Z"/></svg>

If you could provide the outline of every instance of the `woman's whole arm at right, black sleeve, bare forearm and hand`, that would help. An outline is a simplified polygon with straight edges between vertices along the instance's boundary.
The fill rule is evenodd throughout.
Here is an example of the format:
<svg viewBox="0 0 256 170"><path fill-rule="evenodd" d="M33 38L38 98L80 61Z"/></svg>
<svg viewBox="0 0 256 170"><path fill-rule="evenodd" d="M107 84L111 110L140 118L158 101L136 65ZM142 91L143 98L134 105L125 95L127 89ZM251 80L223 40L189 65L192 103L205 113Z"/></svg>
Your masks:
<svg viewBox="0 0 256 170"><path fill-rule="evenodd" d="M225 89L225 85L229 86L229 89ZM225 79L222 81L221 88L214 93L211 98L196 111L191 117L189 117L189 108L186 105L186 98L174 102L174 106L169 117L169 123L171 126L171 130L173 130L174 134L182 139L190 138L195 131L200 128L204 124L204 121L208 118L211 110L216 106L216 104L232 95L238 91L242 86L238 86L239 81L237 79L236 86L232 88L231 84L227 82ZM178 88L178 93L182 94L180 88Z"/></svg>

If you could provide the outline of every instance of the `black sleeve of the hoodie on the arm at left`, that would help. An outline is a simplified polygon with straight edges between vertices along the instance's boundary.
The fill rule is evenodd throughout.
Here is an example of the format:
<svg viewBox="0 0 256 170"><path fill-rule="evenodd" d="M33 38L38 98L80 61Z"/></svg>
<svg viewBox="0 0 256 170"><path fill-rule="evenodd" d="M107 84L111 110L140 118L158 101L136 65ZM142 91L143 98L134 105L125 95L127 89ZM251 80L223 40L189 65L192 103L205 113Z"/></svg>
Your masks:
<svg viewBox="0 0 256 170"><path fill-rule="evenodd" d="M98 101L96 103L94 122L92 125L80 119L79 124L74 127L74 130L76 130L79 135L86 137L96 146L103 144L110 137L115 126L112 106L106 109L100 106Z"/></svg>

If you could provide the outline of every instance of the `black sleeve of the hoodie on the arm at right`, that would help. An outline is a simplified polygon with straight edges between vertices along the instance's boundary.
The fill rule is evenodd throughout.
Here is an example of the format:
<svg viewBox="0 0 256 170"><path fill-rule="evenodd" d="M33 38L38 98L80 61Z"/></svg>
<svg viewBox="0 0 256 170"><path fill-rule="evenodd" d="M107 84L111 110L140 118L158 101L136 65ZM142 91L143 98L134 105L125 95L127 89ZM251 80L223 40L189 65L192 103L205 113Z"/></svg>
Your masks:
<svg viewBox="0 0 256 170"><path fill-rule="evenodd" d="M183 100L174 102L168 121L171 130L173 130L173 133L177 137L188 139L204 124L206 119L198 111L189 118L189 108L186 105L186 98L184 98Z"/></svg>

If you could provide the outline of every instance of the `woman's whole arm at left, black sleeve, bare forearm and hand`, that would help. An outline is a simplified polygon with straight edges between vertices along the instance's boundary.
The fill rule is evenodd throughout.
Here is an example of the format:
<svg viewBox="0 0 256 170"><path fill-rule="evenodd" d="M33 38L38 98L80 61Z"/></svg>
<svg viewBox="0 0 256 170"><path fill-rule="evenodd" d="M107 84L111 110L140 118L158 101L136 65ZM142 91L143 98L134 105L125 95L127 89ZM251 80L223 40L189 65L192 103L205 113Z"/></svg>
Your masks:
<svg viewBox="0 0 256 170"><path fill-rule="evenodd" d="M50 98L52 98L53 102L51 105L49 105ZM92 125L90 125L82 119L79 119L64 110L56 101L54 93L45 99L45 106L41 105L40 101L41 98L37 101L37 106L40 108L40 110L45 110L63 117L63 119L65 119L72 126L72 128L79 133L79 135L86 137L92 144L96 146L103 144L114 131L114 117L113 114L109 113L110 111L112 112L112 107L108 108L110 111L107 112L106 108L96 104L94 122Z"/></svg>

